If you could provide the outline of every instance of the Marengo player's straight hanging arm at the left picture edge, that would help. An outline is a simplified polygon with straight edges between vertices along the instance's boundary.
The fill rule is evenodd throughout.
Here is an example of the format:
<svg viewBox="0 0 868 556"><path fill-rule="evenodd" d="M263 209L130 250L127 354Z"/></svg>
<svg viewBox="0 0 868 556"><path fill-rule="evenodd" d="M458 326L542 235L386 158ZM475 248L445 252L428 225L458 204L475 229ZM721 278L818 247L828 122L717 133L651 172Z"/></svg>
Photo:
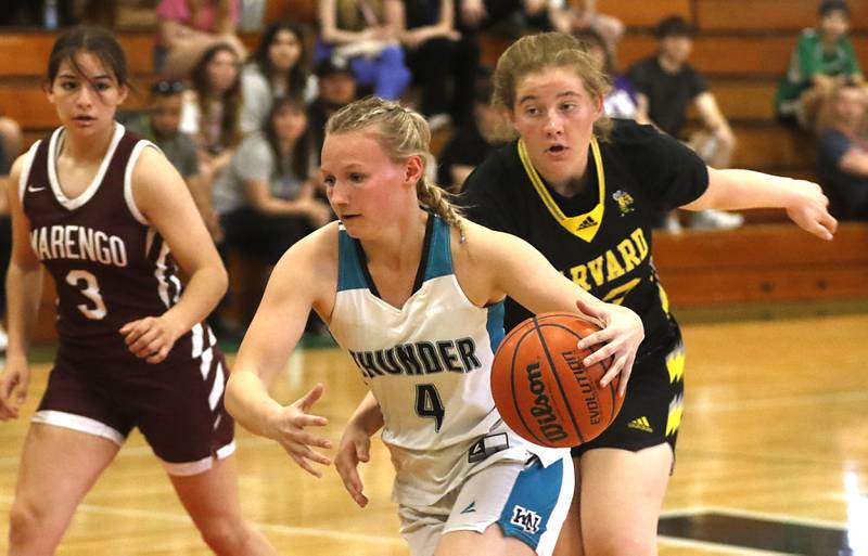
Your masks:
<svg viewBox="0 0 868 556"><path fill-rule="evenodd" d="M42 297L42 266L30 247L30 223L18 196L23 160L21 156L12 166L7 191L12 217L12 255L5 282L9 345L5 368L0 375L0 421L17 417L26 400L30 376L27 349Z"/></svg>

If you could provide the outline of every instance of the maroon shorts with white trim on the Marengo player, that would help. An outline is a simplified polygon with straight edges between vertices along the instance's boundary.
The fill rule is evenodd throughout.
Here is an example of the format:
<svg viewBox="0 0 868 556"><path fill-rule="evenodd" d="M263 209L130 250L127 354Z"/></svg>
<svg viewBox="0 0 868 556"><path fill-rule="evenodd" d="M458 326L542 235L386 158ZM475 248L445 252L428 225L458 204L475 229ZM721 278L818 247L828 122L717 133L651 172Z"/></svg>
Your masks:
<svg viewBox="0 0 868 556"><path fill-rule="evenodd" d="M196 326L192 340L189 334L179 339L156 365L123 346L94 355L62 345L33 421L118 445L138 427L170 475L206 471L215 457L235 449L234 424L224 408L228 372L213 337Z"/></svg>

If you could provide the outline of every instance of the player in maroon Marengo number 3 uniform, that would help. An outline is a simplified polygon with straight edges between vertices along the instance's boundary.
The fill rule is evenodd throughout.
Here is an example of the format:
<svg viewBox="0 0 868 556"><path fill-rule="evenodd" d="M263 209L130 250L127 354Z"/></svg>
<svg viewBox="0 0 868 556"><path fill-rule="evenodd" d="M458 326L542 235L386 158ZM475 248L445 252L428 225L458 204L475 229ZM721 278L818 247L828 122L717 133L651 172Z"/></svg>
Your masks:
<svg viewBox="0 0 868 556"><path fill-rule="evenodd" d="M58 286L60 346L24 444L10 554L54 553L132 427L215 553L275 554L241 518L226 366L202 323L226 270L178 172L115 121L128 92L120 47L101 29L61 35L44 89L62 127L12 169L0 419L17 417L26 396L43 266Z"/></svg>

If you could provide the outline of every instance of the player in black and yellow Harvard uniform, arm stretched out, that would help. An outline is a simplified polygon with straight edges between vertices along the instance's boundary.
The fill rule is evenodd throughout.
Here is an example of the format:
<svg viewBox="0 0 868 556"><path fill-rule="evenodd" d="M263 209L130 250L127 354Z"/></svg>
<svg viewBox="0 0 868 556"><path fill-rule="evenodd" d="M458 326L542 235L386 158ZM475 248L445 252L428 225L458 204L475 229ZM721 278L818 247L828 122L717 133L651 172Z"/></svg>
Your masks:
<svg viewBox="0 0 868 556"><path fill-rule="evenodd" d="M709 168L654 128L605 119L607 86L573 37L520 39L498 61L493 95L519 139L464 184L471 219L528 241L573 282L629 307L644 324L621 414L573 449L576 491L556 551L562 556L656 554L681 417L684 350L651 262L655 216L782 207L825 240L837 227L815 183ZM507 329L526 315L509 302Z"/></svg>

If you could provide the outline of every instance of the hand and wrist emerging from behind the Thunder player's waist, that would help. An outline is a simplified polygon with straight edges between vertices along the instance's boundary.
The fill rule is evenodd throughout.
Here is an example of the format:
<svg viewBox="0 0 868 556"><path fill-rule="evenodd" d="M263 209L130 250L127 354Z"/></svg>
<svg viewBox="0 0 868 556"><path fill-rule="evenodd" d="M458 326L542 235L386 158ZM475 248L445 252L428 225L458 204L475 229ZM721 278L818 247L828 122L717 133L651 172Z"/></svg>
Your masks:
<svg viewBox="0 0 868 556"><path fill-rule="evenodd" d="M360 507L368 505L368 497L363 494L358 466L370 461L371 437L382 427L383 412L373 393L368 392L349 417L334 456L334 467L344 488Z"/></svg>

